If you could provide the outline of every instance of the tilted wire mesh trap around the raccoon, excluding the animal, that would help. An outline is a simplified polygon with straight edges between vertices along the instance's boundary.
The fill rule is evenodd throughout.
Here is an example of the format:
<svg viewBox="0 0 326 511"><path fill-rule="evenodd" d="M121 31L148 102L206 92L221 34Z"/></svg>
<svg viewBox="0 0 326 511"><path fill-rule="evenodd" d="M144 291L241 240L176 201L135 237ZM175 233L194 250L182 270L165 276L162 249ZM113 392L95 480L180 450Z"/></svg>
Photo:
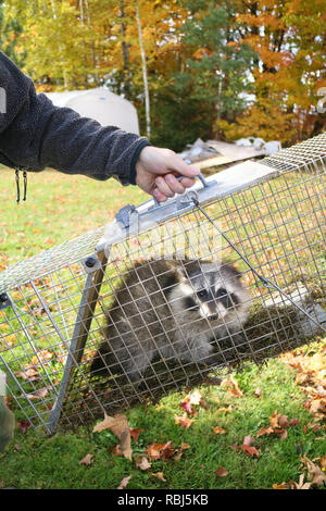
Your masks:
<svg viewBox="0 0 326 511"><path fill-rule="evenodd" d="M87 424L325 332L325 177L322 134L202 179L164 204L125 207L109 226L2 272L0 369L17 413L48 433ZM236 265L252 298L243 340L218 339L213 367L152 361L140 387L90 374L116 288L130 269L166 254Z"/></svg>

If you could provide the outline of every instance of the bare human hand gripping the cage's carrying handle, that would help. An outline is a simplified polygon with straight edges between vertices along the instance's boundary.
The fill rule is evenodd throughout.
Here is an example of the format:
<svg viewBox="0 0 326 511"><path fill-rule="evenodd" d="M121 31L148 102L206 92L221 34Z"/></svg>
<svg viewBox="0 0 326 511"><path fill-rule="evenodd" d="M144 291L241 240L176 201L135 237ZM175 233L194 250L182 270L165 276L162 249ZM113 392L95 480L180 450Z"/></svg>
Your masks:
<svg viewBox="0 0 326 511"><path fill-rule="evenodd" d="M136 184L159 202L164 202L175 194L184 194L193 185L190 177L200 172L196 166L187 165L174 151L153 146L146 146L136 163ZM177 177L185 176L180 182Z"/></svg>

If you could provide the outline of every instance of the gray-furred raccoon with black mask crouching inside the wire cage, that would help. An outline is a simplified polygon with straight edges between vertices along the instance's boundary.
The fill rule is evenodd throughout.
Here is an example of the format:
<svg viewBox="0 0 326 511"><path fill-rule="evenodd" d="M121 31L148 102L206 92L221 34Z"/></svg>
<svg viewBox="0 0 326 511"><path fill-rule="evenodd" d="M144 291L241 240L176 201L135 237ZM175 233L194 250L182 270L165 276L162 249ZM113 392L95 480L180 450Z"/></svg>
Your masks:
<svg viewBox="0 0 326 511"><path fill-rule="evenodd" d="M230 264L174 259L137 263L105 311L104 340L90 371L136 383L156 358L217 364L221 349L214 353L213 345L241 329L249 307L240 273Z"/></svg>

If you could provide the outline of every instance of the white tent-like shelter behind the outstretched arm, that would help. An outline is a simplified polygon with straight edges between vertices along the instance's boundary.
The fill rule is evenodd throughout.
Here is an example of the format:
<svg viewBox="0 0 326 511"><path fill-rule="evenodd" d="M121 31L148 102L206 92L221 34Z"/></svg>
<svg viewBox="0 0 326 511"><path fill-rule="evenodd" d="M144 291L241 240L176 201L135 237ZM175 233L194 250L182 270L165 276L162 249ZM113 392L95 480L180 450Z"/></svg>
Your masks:
<svg viewBox="0 0 326 511"><path fill-rule="evenodd" d="M104 87L67 92L48 92L55 107L67 107L84 117L98 121L102 126L117 126L139 135L137 110L126 99Z"/></svg>

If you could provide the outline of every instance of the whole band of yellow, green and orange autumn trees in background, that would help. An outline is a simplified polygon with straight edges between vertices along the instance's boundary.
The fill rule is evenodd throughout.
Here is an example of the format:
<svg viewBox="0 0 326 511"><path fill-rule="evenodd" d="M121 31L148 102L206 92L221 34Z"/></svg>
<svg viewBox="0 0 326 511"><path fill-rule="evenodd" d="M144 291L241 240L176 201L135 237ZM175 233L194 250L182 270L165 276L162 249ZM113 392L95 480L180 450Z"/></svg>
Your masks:
<svg viewBox="0 0 326 511"><path fill-rule="evenodd" d="M39 91L105 85L153 144L319 133L325 0L0 0L1 49Z"/></svg>

